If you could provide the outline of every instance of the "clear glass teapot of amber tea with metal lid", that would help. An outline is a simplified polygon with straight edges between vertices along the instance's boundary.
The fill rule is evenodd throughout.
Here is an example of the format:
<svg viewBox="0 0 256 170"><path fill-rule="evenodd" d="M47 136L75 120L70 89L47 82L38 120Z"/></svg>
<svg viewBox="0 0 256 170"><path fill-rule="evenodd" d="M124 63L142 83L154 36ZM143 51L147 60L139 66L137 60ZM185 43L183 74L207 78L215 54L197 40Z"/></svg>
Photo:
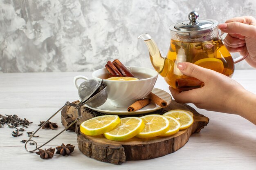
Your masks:
<svg viewBox="0 0 256 170"><path fill-rule="evenodd" d="M138 38L146 43L151 63L165 81L179 91L188 91L202 87L204 83L182 74L177 63L191 62L232 77L234 64L246 57L240 56L233 60L222 42L227 34L219 35L217 26L216 20L199 19L198 13L192 11L189 20L169 27L171 43L166 57L162 57L150 35L144 33Z"/></svg>

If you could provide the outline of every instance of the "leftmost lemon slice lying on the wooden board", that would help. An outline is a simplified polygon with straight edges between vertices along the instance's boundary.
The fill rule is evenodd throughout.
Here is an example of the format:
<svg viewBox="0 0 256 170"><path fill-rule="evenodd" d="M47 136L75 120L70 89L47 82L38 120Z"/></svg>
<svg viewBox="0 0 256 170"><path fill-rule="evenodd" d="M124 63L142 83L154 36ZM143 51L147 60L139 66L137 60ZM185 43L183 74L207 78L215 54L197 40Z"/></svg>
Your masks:
<svg viewBox="0 0 256 170"><path fill-rule="evenodd" d="M80 125L80 131L85 135L101 135L109 132L120 123L117 115L104 115L84 121Z"/></svg>

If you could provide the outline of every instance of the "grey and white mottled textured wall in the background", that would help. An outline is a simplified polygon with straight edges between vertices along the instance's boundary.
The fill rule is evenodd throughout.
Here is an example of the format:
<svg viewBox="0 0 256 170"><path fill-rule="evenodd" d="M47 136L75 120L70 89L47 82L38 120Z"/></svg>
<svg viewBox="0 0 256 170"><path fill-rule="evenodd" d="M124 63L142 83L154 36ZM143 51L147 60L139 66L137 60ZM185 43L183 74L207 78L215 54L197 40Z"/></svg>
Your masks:
<svg viewBox="0 0 256 170"><path fill-rule="evenodd" d="M151 67L137 36L166 55L168 26L193 10L225 22L255 17L256 0L0 0L0 72L94 71L116 58Z"/></svg>

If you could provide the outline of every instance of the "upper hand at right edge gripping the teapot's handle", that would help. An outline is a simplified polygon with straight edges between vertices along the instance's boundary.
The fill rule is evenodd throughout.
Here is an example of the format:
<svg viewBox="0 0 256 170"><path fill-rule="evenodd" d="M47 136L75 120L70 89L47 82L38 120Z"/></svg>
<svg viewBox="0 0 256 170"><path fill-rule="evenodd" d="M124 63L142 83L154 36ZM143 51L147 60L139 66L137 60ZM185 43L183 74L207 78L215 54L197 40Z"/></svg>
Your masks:
<svg viewBox="0 0 256 170"><path fill-rule="evenodd" d="M240 52L249 55L245 60L256 68L256 19L252 16L236 17L219 24L218 28L228 33L224 40L230 52Z"/></svg>

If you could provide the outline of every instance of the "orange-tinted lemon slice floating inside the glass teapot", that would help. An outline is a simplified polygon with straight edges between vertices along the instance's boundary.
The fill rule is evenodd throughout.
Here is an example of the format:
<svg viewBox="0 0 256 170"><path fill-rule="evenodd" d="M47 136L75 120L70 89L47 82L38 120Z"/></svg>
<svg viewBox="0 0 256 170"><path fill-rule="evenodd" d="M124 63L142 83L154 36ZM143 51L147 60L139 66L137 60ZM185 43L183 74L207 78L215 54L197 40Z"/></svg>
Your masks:
<svg viewBox="0 0 256 170"><path fill-rule="evenodd" d="M224 70L223 62L218 58L203 58L194 62L194 64L217 71L219 73L222 73Z"/></svg>

